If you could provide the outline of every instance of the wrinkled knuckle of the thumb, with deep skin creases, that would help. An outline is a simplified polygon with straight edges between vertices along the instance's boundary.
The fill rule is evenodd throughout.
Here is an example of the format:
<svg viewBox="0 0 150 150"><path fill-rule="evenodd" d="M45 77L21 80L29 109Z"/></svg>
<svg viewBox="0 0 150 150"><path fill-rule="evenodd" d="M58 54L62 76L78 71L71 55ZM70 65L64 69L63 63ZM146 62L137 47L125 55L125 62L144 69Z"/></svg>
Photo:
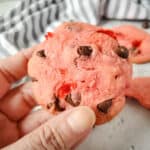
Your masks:
<svg viewBox="0 0 150 150"><path fill-rule="evenodd" d="M54 150L66 150L66 144L59 133L59 130L51 127L50 125L45 125L41 130L40 140L41 145L45 150L54 149Z"/></svg>

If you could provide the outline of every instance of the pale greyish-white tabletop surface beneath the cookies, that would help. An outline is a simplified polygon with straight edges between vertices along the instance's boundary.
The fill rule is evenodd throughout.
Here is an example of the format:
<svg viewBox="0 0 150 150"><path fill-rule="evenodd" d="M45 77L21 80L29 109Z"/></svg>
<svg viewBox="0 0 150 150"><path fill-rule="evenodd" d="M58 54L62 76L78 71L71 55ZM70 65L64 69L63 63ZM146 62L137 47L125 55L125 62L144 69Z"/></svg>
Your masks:
<svg viewBox="0 0 150 150"><path fill-rule="evenodd" d="M0 0L0 14L15 7L17 1L19 0ZM120 22L107 23L106 26L116 24ZM135 76L150 76L150 64L135 66L134 70ZM77 149L150 150L150 111L142 108L135 101L127 101L118 116L111 122L96 127Z"/></svg>

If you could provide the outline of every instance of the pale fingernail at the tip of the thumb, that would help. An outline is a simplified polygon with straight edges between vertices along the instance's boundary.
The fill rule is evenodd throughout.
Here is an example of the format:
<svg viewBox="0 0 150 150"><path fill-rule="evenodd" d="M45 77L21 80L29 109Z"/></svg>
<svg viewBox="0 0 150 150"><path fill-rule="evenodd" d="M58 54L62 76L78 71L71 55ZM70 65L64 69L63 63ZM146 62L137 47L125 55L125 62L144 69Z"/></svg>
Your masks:
<svg viewBox="0 0 150 150"><path fill-rule="evenodd" d="M94 112L85 106L81 106L74 110L67 119L70 127L76 133L82 133L91 129L95 124L95 120Z"/></svg>

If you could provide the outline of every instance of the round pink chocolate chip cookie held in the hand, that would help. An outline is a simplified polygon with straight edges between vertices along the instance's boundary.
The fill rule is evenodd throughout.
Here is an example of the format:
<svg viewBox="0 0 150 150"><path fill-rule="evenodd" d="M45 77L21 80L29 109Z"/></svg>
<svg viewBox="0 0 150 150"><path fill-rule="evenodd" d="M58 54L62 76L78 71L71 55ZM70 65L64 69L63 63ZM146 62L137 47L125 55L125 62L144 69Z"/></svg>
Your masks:
<svg viewBox="0 0 150 150"><path fill-rule="evenodd" d="M28 64L37 102L54 114L89 106L96 113L96 124L118 114L125 103L131 65L127 49L113 34L75 22L48 33Z"/></svg>

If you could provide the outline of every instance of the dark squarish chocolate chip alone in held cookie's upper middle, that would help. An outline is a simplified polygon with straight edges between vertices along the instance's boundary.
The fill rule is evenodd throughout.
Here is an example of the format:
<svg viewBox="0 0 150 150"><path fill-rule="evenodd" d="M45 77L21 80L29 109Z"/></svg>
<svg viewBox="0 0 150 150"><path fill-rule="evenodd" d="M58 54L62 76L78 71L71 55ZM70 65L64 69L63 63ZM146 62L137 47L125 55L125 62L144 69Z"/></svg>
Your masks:
<svg viewBox="0 0 150 150"><path fill-rule="evenodd" d="M93 49L91 46L80 46L78 49L77 49L77 53L79 55L83 55L83 56L90 56L91 53L92 53Z"/></svg>

